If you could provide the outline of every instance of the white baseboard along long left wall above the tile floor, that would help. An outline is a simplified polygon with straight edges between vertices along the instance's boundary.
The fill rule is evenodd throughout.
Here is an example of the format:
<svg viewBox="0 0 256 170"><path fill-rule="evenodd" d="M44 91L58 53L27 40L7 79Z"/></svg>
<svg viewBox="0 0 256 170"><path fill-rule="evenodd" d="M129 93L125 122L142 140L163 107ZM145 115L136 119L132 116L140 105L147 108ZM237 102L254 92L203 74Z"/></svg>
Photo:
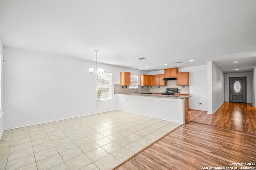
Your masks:
<svg viewBox="0 0 256 170"><path fill-rule="evenodd" d="M43 124L43 123L50 123L50 122L54 122L54 121L60 121L60 120L66 120L66 119L72 119L72 118L76 118L76 117L82 117L82 116L94 115L94 114L104 113L104 112L108 112L108 111L115 111L115 110L106 110L106 111L100 111L100 112L89 113L89 114L85 114L85 115L78 115L78 116L73 116L73 117L65 117L65 118L61 118L61 119L54 119L54 120L50 120L50 121L42 121L42 122L38 122L38 123L31 123L31 124L26 124L26 125L20 125L20 126L8 127L8 128L4 128L4 131L6 131L6 130L10 130L10 129L17 129L17 128L20 128L20 127L27 127L27 126L33 126L33 125L40 125L40 124Z"/></svg>

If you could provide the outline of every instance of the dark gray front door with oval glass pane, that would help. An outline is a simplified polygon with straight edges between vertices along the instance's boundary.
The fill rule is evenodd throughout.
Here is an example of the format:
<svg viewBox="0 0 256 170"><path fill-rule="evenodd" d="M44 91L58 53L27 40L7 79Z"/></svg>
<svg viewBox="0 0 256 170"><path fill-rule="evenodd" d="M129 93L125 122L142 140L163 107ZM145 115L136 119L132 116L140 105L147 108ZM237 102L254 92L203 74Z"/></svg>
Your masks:
<svg viewBox="0 0 256 170"><path fill-rule="evenodd" d="M246 77L229 78L229 101L246 103Z"/></svg>

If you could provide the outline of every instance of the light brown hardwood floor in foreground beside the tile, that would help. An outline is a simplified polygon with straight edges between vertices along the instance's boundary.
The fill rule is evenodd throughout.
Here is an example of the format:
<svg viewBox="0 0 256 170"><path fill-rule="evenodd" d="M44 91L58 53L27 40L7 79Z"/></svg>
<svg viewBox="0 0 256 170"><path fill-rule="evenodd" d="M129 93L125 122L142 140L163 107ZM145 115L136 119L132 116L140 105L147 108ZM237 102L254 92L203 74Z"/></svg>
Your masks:
<svg viewBox="0 0 256 170"><path fill-rule="evenodd" d="M114 169L199 170L203 167L238 167L230 163L256 162L255 148L255 134L187 121Z"/></svg>

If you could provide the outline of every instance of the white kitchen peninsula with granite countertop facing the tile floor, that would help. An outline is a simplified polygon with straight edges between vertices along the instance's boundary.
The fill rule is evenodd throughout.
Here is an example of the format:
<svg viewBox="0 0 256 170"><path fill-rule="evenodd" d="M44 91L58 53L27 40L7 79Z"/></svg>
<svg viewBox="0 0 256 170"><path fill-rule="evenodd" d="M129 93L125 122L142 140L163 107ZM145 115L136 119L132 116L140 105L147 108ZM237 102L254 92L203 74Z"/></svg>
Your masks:
<svg viewBox="0 0 256 170"><path fill-rule="evenodd" d="M118 109L140 115L185 123L185 99L190 96L171 96L143 93L116 94Z"/></svg>

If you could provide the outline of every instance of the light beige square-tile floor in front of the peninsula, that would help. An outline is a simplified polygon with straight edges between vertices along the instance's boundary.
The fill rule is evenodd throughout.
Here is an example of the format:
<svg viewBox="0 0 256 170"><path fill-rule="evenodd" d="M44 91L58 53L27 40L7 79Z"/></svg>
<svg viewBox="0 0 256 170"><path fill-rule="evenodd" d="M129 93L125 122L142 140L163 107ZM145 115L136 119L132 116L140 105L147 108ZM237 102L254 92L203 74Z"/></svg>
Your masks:
<svg viewBox="0 0 256 170"><path fill-rule="evenodd" d="M7 130L0 170L109 170L179 125L116 110Z"/></svg>

